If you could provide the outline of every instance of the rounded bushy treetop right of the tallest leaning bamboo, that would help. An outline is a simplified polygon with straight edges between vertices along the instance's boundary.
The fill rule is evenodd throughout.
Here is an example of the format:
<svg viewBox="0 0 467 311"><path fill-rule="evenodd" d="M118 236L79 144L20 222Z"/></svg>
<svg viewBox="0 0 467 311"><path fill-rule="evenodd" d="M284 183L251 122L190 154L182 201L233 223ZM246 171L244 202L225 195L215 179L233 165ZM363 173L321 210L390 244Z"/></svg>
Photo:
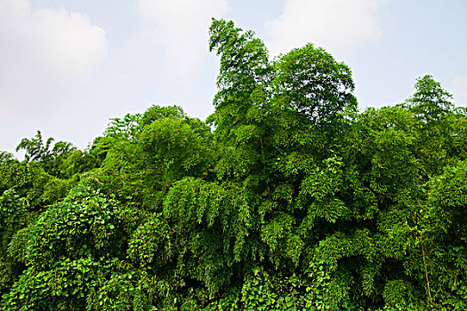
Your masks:
<svg viewBox="0 0 467 311"><path fill-rule="evenodd" d="M357 108L350 68L312 44L283 54L275 63L274 95L311 122L329 122L344 108Z"/></svg>

